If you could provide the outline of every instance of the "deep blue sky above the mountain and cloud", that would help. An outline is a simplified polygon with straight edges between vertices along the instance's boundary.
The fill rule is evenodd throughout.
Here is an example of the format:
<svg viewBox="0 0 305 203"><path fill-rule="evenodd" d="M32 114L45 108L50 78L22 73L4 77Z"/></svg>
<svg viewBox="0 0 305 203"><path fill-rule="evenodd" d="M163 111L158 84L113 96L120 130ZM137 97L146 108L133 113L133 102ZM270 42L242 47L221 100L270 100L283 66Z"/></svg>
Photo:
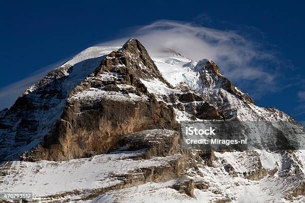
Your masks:
<svg viewBox="0 0 305 203"><path fill-rule="evenodd" d="M252 94L257 104L274 106L297 120L305 120L304 10L305 2L301 0L2 2L0 108L16 97L3 95L11 84L43 73L44 67L89 46L125 37L127 31L139 30L135 26L166 19L212 28L218 33L234 32L252 46L257 45L252 50L264 56L271 54L251 64L268 76L263 80L236 78L232 67L225 69L229 79ZM270 84L269 76L274 76Z"/></svg>

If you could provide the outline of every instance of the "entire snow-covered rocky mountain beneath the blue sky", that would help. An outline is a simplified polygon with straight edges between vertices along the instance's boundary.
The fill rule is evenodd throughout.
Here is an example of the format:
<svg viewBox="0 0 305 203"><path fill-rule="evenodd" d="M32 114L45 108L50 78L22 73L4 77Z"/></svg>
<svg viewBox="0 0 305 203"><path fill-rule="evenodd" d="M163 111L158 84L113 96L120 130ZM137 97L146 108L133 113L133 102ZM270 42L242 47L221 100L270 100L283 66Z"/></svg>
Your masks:
<svg viewBox="0 0 305 203"><path fill-rule="evenodd" d="M303 150L183 149L186 120L300 127L213 61L172 49L151 57L131 38L84 50L0 111L0 192L41 203L305 201Z"/></svg>

